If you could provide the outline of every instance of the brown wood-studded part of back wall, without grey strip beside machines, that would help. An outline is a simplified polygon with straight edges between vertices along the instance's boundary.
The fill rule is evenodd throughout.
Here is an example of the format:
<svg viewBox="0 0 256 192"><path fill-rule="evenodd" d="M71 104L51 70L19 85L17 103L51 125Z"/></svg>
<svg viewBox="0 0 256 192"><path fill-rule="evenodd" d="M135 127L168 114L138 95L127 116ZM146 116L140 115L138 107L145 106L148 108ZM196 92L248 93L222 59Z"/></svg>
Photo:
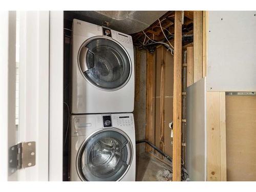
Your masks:
<svg viewBox="0 0 256 192"><path fill-rule="evenodd" d="M163 46L146 54L146 139L172 157L173 140L168 124L173 121L173 55ZM146 147L146 151L162 158L151 147Z"/></svg>

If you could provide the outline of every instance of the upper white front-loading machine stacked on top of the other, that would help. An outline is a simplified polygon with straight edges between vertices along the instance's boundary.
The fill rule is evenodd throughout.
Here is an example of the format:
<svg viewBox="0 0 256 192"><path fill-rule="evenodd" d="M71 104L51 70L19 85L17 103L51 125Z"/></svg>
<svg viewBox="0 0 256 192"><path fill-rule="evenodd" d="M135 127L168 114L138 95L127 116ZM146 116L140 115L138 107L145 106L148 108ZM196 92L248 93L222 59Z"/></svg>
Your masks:
<svg viewBox="0 0 256 192"><path fill-rule="evenodd" d="M77 19L72 35L72 113L133 112L132 37Z"/></svg>

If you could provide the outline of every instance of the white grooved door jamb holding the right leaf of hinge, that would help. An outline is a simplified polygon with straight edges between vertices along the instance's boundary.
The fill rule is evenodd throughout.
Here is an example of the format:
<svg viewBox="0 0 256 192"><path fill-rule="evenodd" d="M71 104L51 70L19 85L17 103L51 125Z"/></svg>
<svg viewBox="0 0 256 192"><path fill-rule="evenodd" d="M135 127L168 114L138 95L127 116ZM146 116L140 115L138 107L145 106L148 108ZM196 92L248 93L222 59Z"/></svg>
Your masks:
<svg viewBox="0 0 256 192"><path fill-rule="evenodd" d="M48 181L49 11L20 11L18 142L36 142L36 164L19 181Z"/></svg>

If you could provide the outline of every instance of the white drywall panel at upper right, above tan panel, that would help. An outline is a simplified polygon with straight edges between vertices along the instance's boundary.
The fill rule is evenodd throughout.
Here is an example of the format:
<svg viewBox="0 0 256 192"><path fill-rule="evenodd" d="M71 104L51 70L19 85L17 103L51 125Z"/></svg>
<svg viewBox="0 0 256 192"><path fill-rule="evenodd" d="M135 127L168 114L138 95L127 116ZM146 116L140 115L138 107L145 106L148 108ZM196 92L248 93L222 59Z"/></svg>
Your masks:
<svg viewBox="0 0 256 192"><path fill-rule="evenodd" d="M208 91L256 90L255 14L209 11Z"/></svg>

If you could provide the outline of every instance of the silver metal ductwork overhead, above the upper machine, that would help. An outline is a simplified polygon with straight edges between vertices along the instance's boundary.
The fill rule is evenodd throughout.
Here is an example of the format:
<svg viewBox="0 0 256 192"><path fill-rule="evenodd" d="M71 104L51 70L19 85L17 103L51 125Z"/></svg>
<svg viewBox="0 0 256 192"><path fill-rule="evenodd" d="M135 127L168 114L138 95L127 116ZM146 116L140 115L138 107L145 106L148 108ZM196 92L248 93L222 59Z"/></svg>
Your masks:
<svg viewBox="0 0 256 192"><path fill-rule="evenodd" d="M132 34L153 24L167 11L67 11L68 15L96 25Z"/></svg>

